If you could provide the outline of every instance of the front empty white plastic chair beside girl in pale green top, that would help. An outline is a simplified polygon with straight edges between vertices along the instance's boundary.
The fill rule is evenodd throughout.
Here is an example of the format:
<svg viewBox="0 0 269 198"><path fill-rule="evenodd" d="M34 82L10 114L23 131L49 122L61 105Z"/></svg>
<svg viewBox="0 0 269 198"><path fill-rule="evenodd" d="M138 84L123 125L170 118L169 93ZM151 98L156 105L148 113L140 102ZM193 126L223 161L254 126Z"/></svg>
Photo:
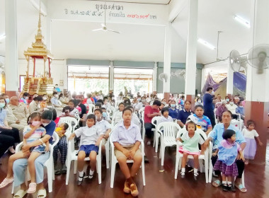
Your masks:
<svg viewBox="0 0 269 198"><path fill-rule="evenodd" d="M161 128L163 128L164 132L161 132ZM166 146L176 145L176 134L181 129L178 124L175 122L161 122L157 126L157 132L161 134L161 165L164 165L164 151Z"/></svg>

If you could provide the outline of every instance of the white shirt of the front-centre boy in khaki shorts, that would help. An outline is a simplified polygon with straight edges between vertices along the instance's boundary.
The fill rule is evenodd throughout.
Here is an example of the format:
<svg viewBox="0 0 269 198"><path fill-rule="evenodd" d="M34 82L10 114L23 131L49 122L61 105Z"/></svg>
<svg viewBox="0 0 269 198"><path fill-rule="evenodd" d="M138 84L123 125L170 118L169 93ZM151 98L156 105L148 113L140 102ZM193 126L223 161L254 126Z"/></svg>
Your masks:
<svg viewBox="0 0 269 198"><path fill-rule="evenodd" d="M130 146L137 141L142 142L140 129L132 122L128 129L125 128L123 121L120 122L113 130L110 138L113 142L118 142L122 146Z"/></svg>

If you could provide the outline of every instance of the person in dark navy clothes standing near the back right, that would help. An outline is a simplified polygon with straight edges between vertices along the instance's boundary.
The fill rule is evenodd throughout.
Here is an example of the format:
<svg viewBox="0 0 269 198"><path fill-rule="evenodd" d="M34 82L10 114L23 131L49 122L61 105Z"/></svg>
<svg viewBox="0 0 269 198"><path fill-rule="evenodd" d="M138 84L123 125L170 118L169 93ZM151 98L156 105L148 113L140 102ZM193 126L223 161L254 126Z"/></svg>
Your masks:
<svg viewBox="0 0 269 198"><path fill-rule="evenodd" d="M207 88L207 92L204 95L204 115L206 115L209 119L210 122L212 124L212 128L214 127L214 125L216 124L215 120L214 120L214 100L213 100L213 88L212 87L208 87Z"/></svg>

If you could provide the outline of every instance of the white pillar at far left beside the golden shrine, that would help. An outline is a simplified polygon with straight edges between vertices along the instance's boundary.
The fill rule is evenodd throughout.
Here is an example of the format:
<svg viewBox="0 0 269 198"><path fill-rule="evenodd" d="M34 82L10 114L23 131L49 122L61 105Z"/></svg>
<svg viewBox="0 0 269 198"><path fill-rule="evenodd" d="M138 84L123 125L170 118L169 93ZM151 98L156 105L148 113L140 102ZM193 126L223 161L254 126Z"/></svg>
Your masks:
<svg viewBox="0 0 269 198"><path fill-rule="evenodd" d="M15 95L18 92L18 48L16 0L5 1L6 29L6 93Z"/></svg>

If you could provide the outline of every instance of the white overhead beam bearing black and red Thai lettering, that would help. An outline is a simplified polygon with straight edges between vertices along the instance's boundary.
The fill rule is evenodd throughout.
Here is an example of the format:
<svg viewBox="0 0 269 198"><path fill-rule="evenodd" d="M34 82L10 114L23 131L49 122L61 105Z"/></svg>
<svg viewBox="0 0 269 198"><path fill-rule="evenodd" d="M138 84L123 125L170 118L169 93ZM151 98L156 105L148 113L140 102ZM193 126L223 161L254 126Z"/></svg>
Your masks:
<svg viewBox="0 0 269 198"><path fill-rule="evenodd" d="M104 1L49 1L52 20L166 25L168 6Z"/></svg>

